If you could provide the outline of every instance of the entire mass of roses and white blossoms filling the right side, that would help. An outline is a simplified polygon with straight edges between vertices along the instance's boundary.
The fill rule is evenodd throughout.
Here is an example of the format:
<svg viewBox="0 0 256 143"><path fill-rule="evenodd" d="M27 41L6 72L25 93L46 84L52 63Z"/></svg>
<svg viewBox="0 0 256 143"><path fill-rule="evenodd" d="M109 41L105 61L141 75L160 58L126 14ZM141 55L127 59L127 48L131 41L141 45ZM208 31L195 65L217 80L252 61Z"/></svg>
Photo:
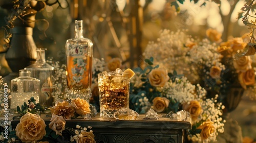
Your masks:
<svg viewBox="0 0 256 143"><path fill-rule="evenodd" d="M244 92L255 99L253 61L249 56L235 58L248 46L244 39L221 42L221 34L212 29L206 36L201 40L186 31L161 31L157 42L148 43L145 49L148 65L135 69L137 76L131 81L130 103L138 112L151 107L158 112L190 112L193 129L188 139L193 141L215 140L223 132L223 112L234 110ZM157 66L152 66L153 59ZM204 127L207 133L216 134L207 136Z"/></svg>

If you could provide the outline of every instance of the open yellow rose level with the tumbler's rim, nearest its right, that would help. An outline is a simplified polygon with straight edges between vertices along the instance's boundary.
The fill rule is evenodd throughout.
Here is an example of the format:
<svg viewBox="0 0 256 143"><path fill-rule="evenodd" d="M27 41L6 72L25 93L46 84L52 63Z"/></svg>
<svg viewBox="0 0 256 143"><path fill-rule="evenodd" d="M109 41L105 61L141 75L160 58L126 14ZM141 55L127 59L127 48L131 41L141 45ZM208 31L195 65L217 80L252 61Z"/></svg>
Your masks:
<svg viewBox="0 0 256 143"><path fill-rule="evenodd" d="M148 74L148 80L152 86L163 87L169 80L167 70L163 68L152 69L150 74Z"/></svg>

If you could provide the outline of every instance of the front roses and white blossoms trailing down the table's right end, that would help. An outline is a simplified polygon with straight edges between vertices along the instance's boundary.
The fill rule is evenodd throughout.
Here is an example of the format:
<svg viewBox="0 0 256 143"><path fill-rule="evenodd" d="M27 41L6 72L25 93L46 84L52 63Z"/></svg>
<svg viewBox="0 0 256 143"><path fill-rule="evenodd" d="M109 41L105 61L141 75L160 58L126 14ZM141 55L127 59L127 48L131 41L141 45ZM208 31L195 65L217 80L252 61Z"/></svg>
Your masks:
<svg viewBox="0 0 256 143"><path fill-rule="evenodd" d="M154 59L145 59L147 66L135 68L131 79L130 108L145 113L153 108L159 113L186 110L190 113L193 128L188 139L193 141L214 141L224 132L222 110L224 106L215 98L206 98L206 90L199 84L191 84L177 72L168 73Z"/></svg>

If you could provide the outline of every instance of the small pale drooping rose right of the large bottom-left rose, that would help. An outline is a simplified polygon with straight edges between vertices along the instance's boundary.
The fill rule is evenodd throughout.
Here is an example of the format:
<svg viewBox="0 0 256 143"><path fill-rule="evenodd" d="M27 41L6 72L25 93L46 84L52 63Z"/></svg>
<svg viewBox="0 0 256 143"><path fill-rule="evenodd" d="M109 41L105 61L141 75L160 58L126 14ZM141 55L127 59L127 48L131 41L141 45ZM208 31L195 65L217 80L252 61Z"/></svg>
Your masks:
<svg viewBox="0 0 256 143"><path fill-rule="evenodd" d="M52 115L49 128L56 132L56 135L62 135L62 131L65 130L66 121L62 116Z"/></svg>

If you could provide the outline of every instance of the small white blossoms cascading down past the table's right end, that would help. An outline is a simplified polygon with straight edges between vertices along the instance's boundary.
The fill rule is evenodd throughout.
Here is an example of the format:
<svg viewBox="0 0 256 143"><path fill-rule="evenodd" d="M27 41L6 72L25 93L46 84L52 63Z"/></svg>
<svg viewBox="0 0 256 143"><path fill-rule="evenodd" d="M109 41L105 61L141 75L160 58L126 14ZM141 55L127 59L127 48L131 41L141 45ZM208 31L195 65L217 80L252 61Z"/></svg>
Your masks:
<svg viewBox="0 0 256 143"><path fill-rule="evenodd" d="M217 102L218 95L212 99L206 99L206 90L199 84L196 86L191 84L187 78L182 77L181 79L176 78L175 82L171 80L164 86L163 89L166 92L166 97L169 99L175 99L179 103L183 104L190 101L199 101L202 107L202 114L198 118L198 121L212 121L216 131L211 134L206 142L215 141L218 133L224 132L224 123L221 115L224 106L222 103ZM201 141L200 134L189 135L189 139L193 141Z"/></svg>

